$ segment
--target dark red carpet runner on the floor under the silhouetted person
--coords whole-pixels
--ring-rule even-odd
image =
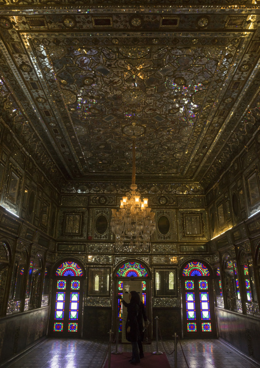
[[[122,353],[119,355],[111,354],[111,368],[130,368],[134,367],[133,364],[128,362],[132,358],[132,354],[129,352]],[[107,368],[109,360],[107,359],[104,368]],[[144,353],[144,358],[141,359],[140,363],[136,364],[136,367],[142,368],[170,368],[168,359],[163,353],[162,355],[154,355],[151,353]]]

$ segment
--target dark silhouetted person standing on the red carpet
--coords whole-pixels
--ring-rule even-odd
[[[136,291],[129,293],[129,303],[122,300],[127,308],[127,320],[125,325],[126,339],[132,343],[132,359],[131,363],[136,364],[143,358],[143,319],[146,322],[144,305],[140,300],[140,296]],[[139,352],[138,352],[139,348]]]

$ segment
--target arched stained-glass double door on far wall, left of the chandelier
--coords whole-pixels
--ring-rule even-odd
[[[53,283],[49,335],[80,337],[82,324],[83,272],[66,261],[59,265]]]

